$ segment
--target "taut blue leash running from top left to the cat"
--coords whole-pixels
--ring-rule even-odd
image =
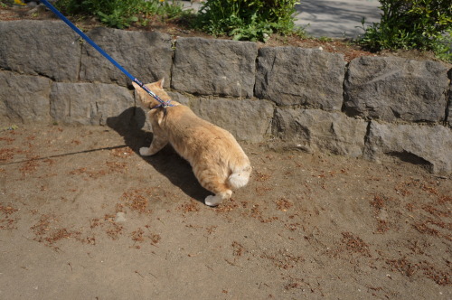
[[[69,21],[63,14],[60,13],[60,11],[58,9],[56,9],[53,5],[51,5],[49,3],[49,1],[47,0],[41,0],[41,2],[47,6],[47,8],[49,8],[53,14],[56,14],[64,23],[68,24],[69,27],[71,27],[71,29],[78,33],[80,35],[80,37],[85,40],[86,42],[89,42],[89,44],[91,46],[94,47],[94,49],[96,49],[100,54],[102,54],[106,59],[108,59],[108,61],[110,61],[111,63],[113,63],[119,70],[121,70],[124,74],[127,75],[127,77],[134,81],[135,83],[137,83],[137,85],[139,85],[142,89],[146,90],[146,93],[148,93],[152,98],[155,98],[155,100],[157,100],[160,104],[155,106],[154,108],[166,108],[166,107],[173,107],[172,104],[170,104],[171,100],[169,101],[164,101],[162,100],[160,97],[158,97],[157,95],[155,95],[155,93],[152,92],[152,90],[148,89],[143,82],[141,82],[140,80],[137,80],[137,78],[133,77],[129,72],[127,72],[126,69],[124,69],[119,63],[118,61],[113,60],[108,54],[107,52],[104,52],[102,50],[102,48],[100,48],[95,42],[93,42],[91,39],[89,39],[88,35],[86,35],[85,33],[81,32],[79,28],[77,28],[77,26],[75,26],[73,23],[71,23],[71,21]]]

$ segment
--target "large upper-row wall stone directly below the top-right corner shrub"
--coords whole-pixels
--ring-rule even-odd
[[[435,61],[363,56],[344,81],[349,115],[393,121],[444,120],[447,67]]]

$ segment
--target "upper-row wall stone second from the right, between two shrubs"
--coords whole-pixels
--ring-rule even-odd
[[[340,110],[344,68],[342,54],[297,47],[261,48],[256,97],[278,105]]]

